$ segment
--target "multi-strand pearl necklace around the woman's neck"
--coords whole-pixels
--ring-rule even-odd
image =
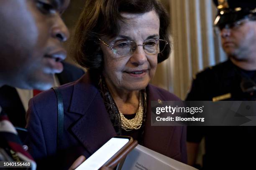
[[[137,130],[141,128],[142,125],[142,120],[143,120],[143,99],[142,99],[142,93],[140,92],[139,94],[139,107],[136,112],[136,115],[133,119],[127,119],[124,117],[123,113],[119,111],[120,118],[121,118],[121,124],[122,124],[122,129],[125,131],[131,131],[133,129]]]

